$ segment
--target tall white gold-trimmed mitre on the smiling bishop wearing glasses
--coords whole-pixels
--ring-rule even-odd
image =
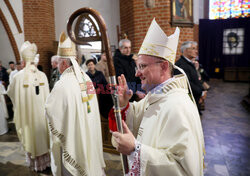
[[[157,56],[174,65],[179,34],[177,27],[175,33],[168,37],[153,19],[138,54]]]

